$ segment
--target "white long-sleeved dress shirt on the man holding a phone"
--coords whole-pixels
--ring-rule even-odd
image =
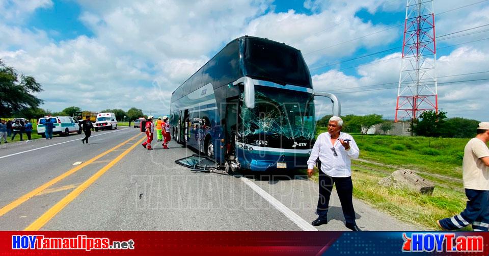
[[[350,149],[346,151],[341,145],[339,139],[350,139]],[[334,155],[331,148],[335,148],[338,156]],[[316,165],[316,159],[319,157],[321,161],[321,171],[331,177],[349,177],[351,176],[351,158],[358,158],[360,149],[357,143],[347,133],[340,132],[340,136],[335,141],[335,145],[331,144],[331,135],[328,132],[317,136],[316,143],[311,151],[311,156],[307,161],[308,169],[312,169]]]

